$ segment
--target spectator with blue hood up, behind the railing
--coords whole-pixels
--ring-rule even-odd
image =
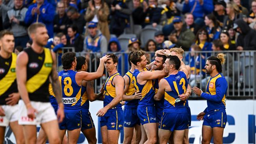
[[[109,40],[108,52],[123,52],[121,50],[120,43],[119,43],[119,41],[116,37],[112,37]],[[123,56],[123,58],[122,58],[122,56]],[[119,54],[119,55],[117,55],[117,57],[118,57],[117,71],[121,75],[126,74],[126,72],[128,72],[128,63],[126,63],[126,61],[128,61],[128,55],[127,54]],[[124,66],[124,72],[123,73],[122,73],[122,65]]]

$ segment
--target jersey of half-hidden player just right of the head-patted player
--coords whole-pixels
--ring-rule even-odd
[[[128,76],[128,78],[129,78],[129,88],[125,94],[128,96],[132,96],[135,94],[134,79],[133,79],[132,72],[130,72],[130,70],[129,70],[125,75]],[[139,102],[139,100],[126,101],[124,107],[137,108],[138,102]]]

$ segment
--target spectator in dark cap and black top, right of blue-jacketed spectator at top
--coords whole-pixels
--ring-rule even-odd
[[[226,15],[226,2],[224,0],[217,0],[214,2],[213,15],[216,17],[219,25],[223,27],[224,17]]]

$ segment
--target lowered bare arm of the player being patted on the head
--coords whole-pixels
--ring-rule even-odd
[[[124,79],[122,76],[115,76],[113,79],[113,84],[115,85],[116,96],[108,105],[97,112],[97,116],[104,116],[109,109],[122,101],[122,96],[124,94]]]

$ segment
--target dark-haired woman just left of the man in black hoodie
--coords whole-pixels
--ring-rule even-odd
[[[236,45],[231,43],[228,30],[222,30],[220,40],[223,43],[223,50],[236,50]]]

